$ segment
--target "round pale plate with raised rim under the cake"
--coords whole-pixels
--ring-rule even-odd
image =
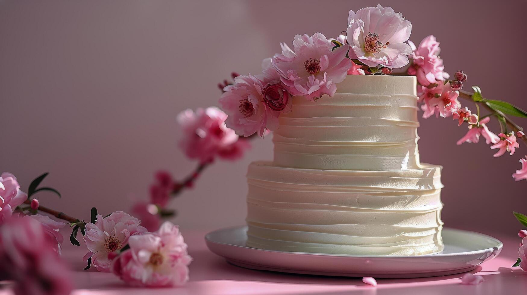
[[[322,276],[421,278],[475,269],[496,257],[503,244],[488,235],[443,229],[445,250],[421,256],[378,256],[282,252],[249,248],[247,227],[221,229],[205,236],[207,247],[236,266]]]

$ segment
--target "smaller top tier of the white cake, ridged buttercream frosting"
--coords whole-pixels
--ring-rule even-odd
[[[294,97],[274,132],[274,164],[309,169],[419,168],[416,79],[348,75],[333,97]]]

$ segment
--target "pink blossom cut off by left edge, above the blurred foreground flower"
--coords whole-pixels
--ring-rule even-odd
[[[15,175],[4,172],[0,175],[0,224],[13,215],[13,210],[27,200],[20,190]]]

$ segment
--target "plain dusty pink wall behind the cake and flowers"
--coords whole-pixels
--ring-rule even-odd
[[[412,22],[415,43],[435,35],[446,70],[469,75],[467,90],[481,85],[484,96],[527,109],[525,1],[379,2]],[[0,172],[15,173],[27,188],[49,171],[45,184],[63,199],[43,194],[41,203],[78,218],[89,219],[92,205],[128,210],[146,198],[155,170],[182,177],[196,164],[176,144],[179,111],[217,105],[216,84],[231,71],[257,73],[295,34],[337,36],[349,9],[376,3],[1,1]],[[511,174],[527,148],[494,159],[482,142],[456,146],[466,128],[452,119],[421,124],[422,161],[444,166],[446,224],[516,232],[511,212],[527,213],[527,183]],[[183,229],[242,224],[247,165],[272,156],[270,138],[253,146],[242,161],[217,162],[174,200],[174,222]]]

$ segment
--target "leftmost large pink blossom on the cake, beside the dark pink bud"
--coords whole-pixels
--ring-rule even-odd
[[[228,115],[227,127],[236,134],[249,136],[257,132],[263,136],[266,130],[278,128],[280,112],[270,109],[264,100],[264,81],[256,76],[238,76],[235,84],[225,87],[220,97],[221,109]]]

